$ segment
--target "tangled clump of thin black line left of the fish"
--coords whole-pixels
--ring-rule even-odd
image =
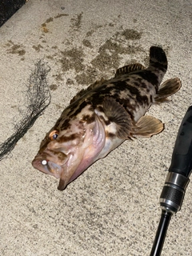
[[[16,131],[7,138],[5,142],[0,144],[0,161],[9,154],[20,138],[22,138],[27,130],[34,125],[34,122],[42,114],[50,104],[50,90],[46,82],[46,76],[50,71],[50,67],[40,60],[35,64],[35,69],[30,74],[27,85],[27,109],[24,117],[16,124]]]

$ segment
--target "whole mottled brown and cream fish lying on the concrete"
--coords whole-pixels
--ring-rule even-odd
[[[160,133],[163,123],[146,111],[169,100],[182,85],[179,78],[162,82],[167,65],[165,51],[151,46],[147,68],[140,63],[122,66],[113,78],[78,92],[42,140],[32,166],[59,178],[58,190],[65,190],[126,139]]]

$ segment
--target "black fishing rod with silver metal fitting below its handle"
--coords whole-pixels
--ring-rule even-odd
[[[192,169],[192,106],[186,111],[178,130],[178,136],[174,145],[172,160],[166,182],[160,196],[162,215],[158,223],[158,230],[154,238],[154,244],[150,256],[160,256],[162,246],[166,238],[170,219],[173,214],[181,210],[186,192],[186,186],[190,182]]]

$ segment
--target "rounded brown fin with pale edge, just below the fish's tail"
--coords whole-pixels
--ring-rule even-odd
[[[163,82],[158,89],[158,93],[154,97],[154,102],[166,102],[168,101],[167,97],[172,94],[175,94],[182,86],[182,82],[179,78],[171,78]]]

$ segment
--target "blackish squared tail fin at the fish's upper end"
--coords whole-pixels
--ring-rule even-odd
[[[162,48],[157,46],[150,47],[150,66],[157,66],[167,70],[167,58]]]

